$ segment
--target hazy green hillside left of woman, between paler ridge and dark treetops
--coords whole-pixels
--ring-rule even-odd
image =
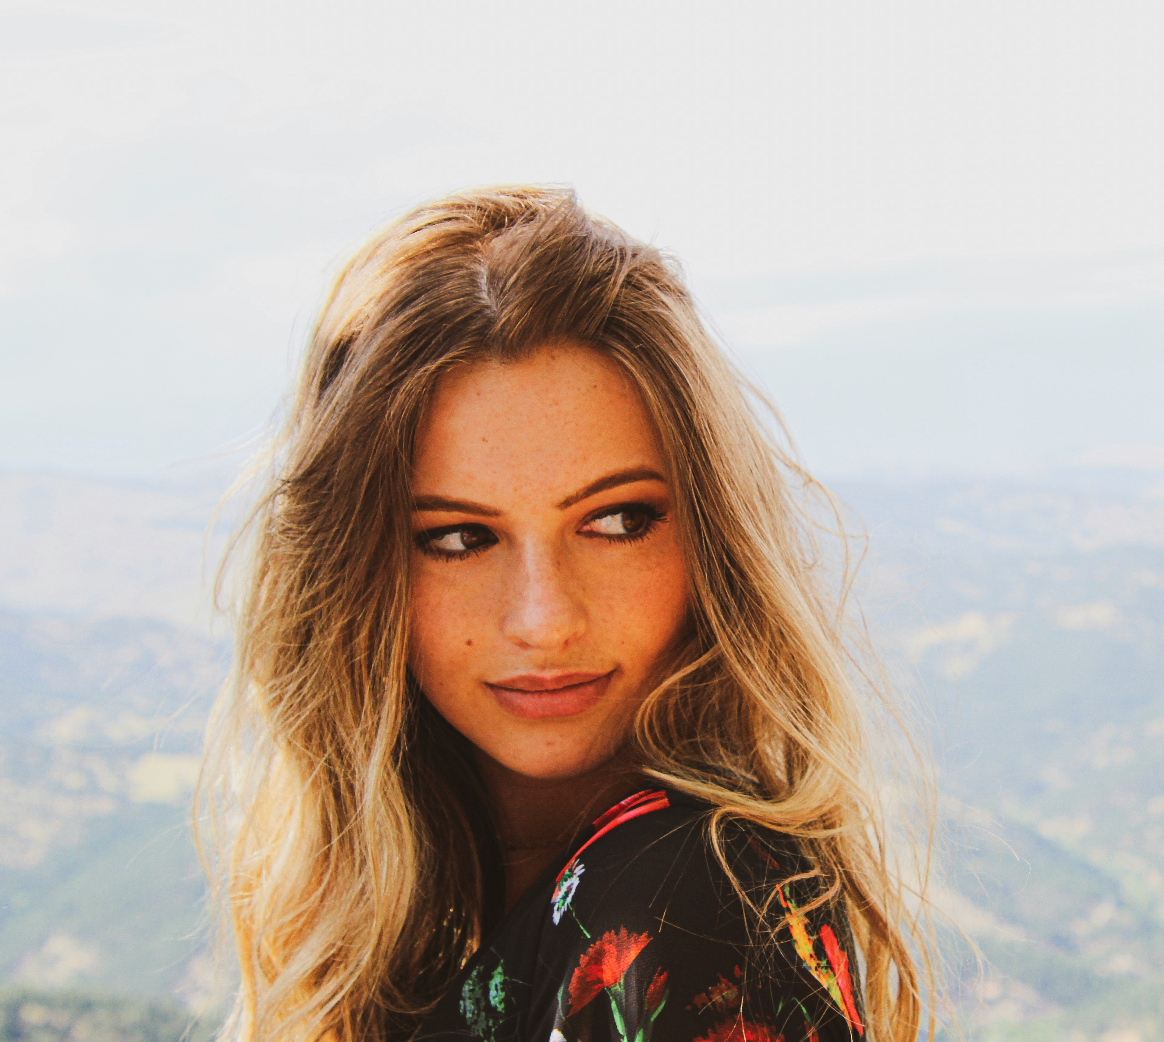
[[[215,648],[156,621],[0,616],[0,979],[194,1002],[189,802]]]

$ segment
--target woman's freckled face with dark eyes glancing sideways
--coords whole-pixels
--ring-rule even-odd
[[[633,384],[569,346],[445,376],[413,494],[411,665],[433,706],[518,774],[605,763],[687,611]]]

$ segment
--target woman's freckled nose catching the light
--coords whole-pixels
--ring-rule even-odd
[[[553,546],[521,548],[503,619],[520,647],[558,651],[585,630],[585,610],[569,569]]]

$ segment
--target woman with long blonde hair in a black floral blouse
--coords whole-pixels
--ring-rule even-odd
[[[675,265],[535,187],[350,261],[211,730],[247,1040],[904,1042],[790,470]]]

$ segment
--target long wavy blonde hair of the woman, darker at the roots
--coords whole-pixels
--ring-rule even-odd
[[[572,192],[528,186],[438,199],[362,246],[272,441],[201,796],[241,964],[229,1033],[407,1037],[481,943],[489,809],[407,668],[411,460],[442,374],[562,341],[639,388],[687,554],[690,632],[630,750],[711,801],[714,839],[733,818],[800,837],[847,912],[871,1036],[913,1040],[931,977],[918,885],[890,864],[870,742],[882,688],[797,505],[818,487],[677,267]]]

